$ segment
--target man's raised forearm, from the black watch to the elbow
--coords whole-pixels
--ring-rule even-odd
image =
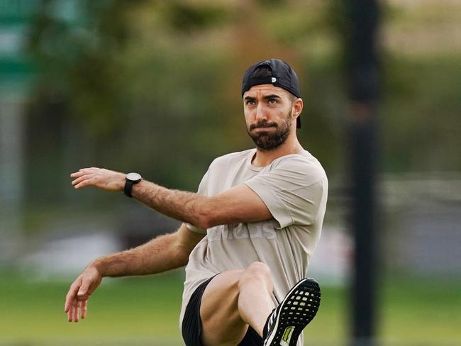
[[[148,181],[133,186],[132,195],[160,213],[179,221],[191,223],[199,228],[206,228],[204,206],[206,197],[187,191],[166,189]]]

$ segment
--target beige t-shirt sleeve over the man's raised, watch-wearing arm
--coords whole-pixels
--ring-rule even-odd
[[[321,167],[297,161],[279,164],[245,184],[260,196],[279,228],[316,222],[328,190]]]

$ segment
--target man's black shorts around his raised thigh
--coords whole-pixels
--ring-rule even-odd
[[[184,318],[182,320],[182,338],[186,346],[203,346],[200,340],[201,335],[201,319],[200,319],[200,303],[206,285],[213,279],[206,280],[201,284],[191,296],[187,304]],[[248,331],[243,337],[243,340],[237,346],[262,346],[264,340],[258,335],[253,328],[248,326]]]

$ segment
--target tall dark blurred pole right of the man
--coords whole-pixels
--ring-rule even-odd
[[[376,340],[377,231],[377,0],[349,0],[351,227],[355,240],[352,279],[352,345],[371,346]]]

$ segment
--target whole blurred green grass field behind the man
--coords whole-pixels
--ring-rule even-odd
[[[68,323],[68,283],[2,275],[0,345],[183,345],[178,316],[182,273],[105,279],[87,319]],[[380,345],[461,345],[461,282],[387,279],[382,285]],[[348,291],[323,286],[306,345],[347,345]]]

